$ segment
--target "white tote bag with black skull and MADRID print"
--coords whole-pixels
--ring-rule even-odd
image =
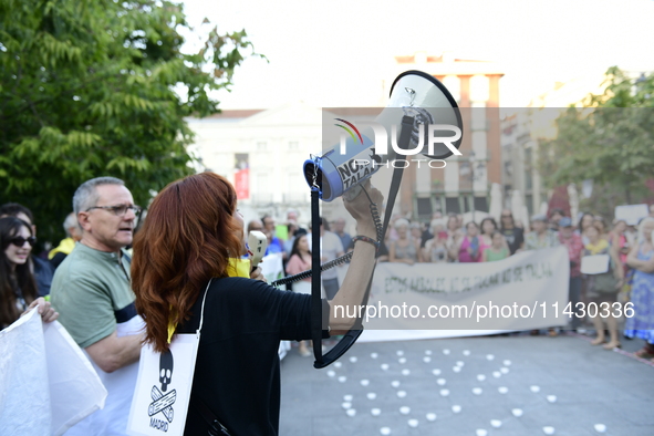
[[[205,290],[200,324],[195,334],[176,334],[168,353],[157,353],[150,344],[141,349],[138,378],[127,423],[128,435],[184,435],[205,316],[205,300],[210,284],[211,281]]]

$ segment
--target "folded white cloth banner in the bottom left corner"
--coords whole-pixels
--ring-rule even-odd
[[[75,341],[35,310],[0,332],[0,435],[62,435],[107,392]]]

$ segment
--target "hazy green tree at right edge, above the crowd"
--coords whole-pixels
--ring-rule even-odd
[[[557,120],[557,138],[540,147],[540,169],[550,187],[593,180],[612,212],[652,195],[654,74],[634,81],[611,68],[605,85],[582,101],[586,108],[570,107]]]

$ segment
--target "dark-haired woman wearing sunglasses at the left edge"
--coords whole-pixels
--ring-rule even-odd
[[[31,227],[15,217],[0,218],[0,328],[6,329],[21,314],[38,308],[44,322],[58,313],[39,297],[28,259],[37,238]]]

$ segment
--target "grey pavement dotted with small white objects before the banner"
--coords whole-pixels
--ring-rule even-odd
[[[356,343],[282,361],[281,436],[654,435],[654,364],[564,333]]]

